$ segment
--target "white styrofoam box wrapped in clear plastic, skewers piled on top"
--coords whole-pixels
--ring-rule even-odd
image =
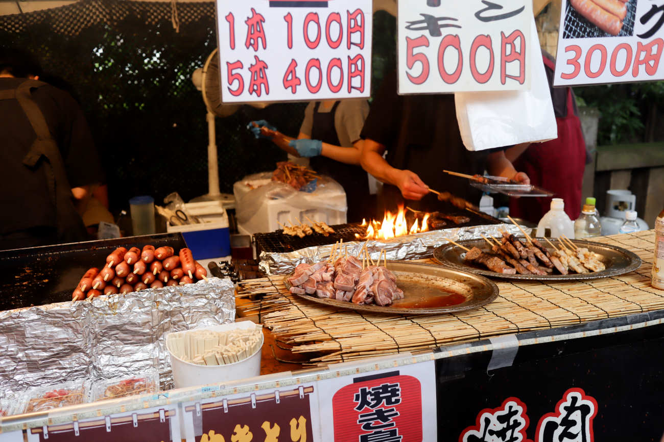
[[[270,180],[264,181],[266,183],[270,182]],[[236,183],[236,186],[234,186],[236,210],[238,211],[241,209],[240,206],[242,205],[244,195],[252,190],[248,186],[238,186],[239,183]],[[261,182],[260,184],[264,183]],[[308,223],[306,217],[309,217],[313,221],[323,221],[328,225],[345,224],[347,214],[346,193],[343,192],[341,186],[338,184],[337,186],[339,187],[338,192],[327,192],[324,198],[318,199],[315,193],[310,193],[307,195],[307,198],[311,201],[311,206],[327,205],[339,207],[339,209],[295,207],[290,205],[287,199],[268,199],[266,197],[260,201],[260,205],[258,205],[256,211],[254,211],[248,221],[243,223],[238,219],[238,231],[244,235],[274,232],[282,229],[279,223],[288,225],[289,221],[295,223],[295,219],[302,223]]]

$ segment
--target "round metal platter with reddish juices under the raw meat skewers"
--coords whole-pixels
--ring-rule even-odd
[[[489,304],[498,296],[498,287],[477,274],[407,261],[388,261],[387,268],[396,275],[396,285],[405,298],[384,307],[317,298],[315,294],[295,296],[327,307],[398,315],[457,313]],[[288,276],[284,285],[290,288]]]

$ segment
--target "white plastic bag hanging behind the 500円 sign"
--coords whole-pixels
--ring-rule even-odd
[[[535,19],[531,41],[531,90],[454,94],[465,148],[485,150],[558,138]]]

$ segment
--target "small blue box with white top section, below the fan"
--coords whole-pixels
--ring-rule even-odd
[[[179,232],[191,249],[194,259],[219,258],[230,255],[228,215],[221,201],[186,203],[187,215],[197,216],[203,223],[166,224],[166,231]]]

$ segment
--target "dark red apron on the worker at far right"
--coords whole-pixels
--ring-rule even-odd
[[[554,69],[554,63],[544,58],[544,64]],[[567,88],[567,106],[564,117],[556,117],[558,138],[547,142],[535,142],[517,158],[514,167],[531,178],[531,184],[551,192],[565,201],[565,212],[570,219],[581,213],[581,188],[586,167],[586,142],[581,131],[581,121],[574,115],[572,89]],[[551,197],[512,198],[509,213],[539,223],[550,209]]]

